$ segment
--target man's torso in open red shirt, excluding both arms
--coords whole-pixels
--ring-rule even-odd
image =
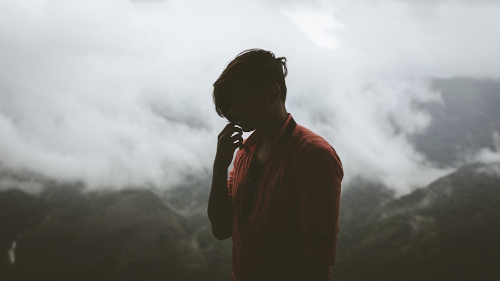
[[[299,276],[304,249],[298,227],[298,173],[295,167],[303,161],[303,155],[318,147],[332,149],[323,139],[297,126],[283,142],[273,147],[270,154],[263,142],[254,147],[251,160],[249,150],[238,151],[233,168],[236,171],[233,178],[235,186],[232,189],[233,206],[244,205],[241,209],[233,208],[236,216],[233,220],[232,261],[233,271],[238,277],[265,280],[263,276],[267,276],[273,280],[295,280]],[[263,187],[260,193],[254,194],[255,201],[245,201],[252,196],[247,195],[249,190],[245,187],[248,185],[242,176],[246,172],[253,174],[253,167],[249,168],[253,160],[269,162],[266,163],[265,178],[258,179]],[[249,206],[256,208],[251,218],[247,217]],[[241,225],[244,227],[240,228]],[[288,270],[283,272],[276,268]]]

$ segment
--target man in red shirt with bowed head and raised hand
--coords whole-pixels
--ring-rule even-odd
[[[287,113],[286,74],[284,57],[249,49],[213,84],[229,123],[218,135],[207,211],[213,235],[232,237],[232,281],[331,280],[342,165]]]

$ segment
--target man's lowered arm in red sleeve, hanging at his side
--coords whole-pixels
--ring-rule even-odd
[[[316,149],[300,163],[297,193],[305,251],[300,280],[331,278],[325,273],[335,263],[342,177],[342,165],[333,149]]]

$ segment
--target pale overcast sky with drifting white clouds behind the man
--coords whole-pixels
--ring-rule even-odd
[[[211,172],[211,84],[288,58],[287,109],[355,175],[406,193],[449,172],[407,141],[429,77],[500,78],[495,1],[0,0],[0,163],[90,187]],[[495,157],[495,156],[493,156]]]

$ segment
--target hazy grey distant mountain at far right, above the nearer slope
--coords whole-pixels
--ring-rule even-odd
[[[500,81],[461,77],[433,79],[432,85],[441,101],[418,105],[432,115],[425,131],[412,138],[418,151],[441,166],[500,152]]]

